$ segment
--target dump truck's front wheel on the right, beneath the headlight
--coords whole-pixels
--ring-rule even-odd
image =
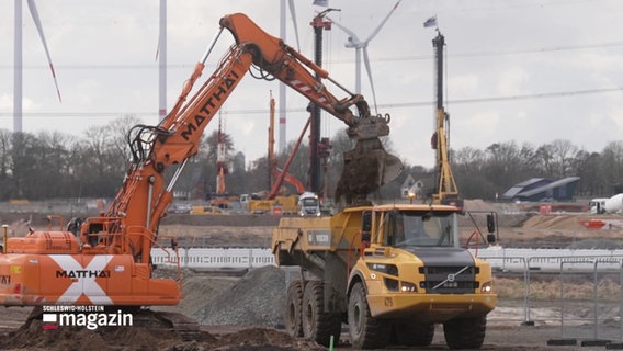
[[[485,341],[487,317],[456,318],[443,324],[445,343],[453,350],[479,349]]]

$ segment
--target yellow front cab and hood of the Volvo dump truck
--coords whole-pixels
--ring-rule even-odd
[[[371,316],[444,322],[495,307],[489,263],[460,247],[456,207],[376,206],[362,213],[362,238],[349,292],[364,283]]]

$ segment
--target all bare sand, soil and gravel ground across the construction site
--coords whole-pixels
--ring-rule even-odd
[[[512,205],[487,204],[471,201],[467,210],[480,216],[489,211],[498,213],[499,238],[505,247],[605,247],[623,246],[620,228],[610,230],[587,229],[580,220],[596,218],[587,214],[550,214],[518,212]],[[218,218],[217,218],[218,217]],[[609,216],[599,218],[621,218]],[[7,220],[7,219],[4,219]],[[161,231],[175,234],[182,246],[268,247],[271,229],[277,218],[270,215],[191,216],[172,215],[162,222]],[[479,222],[483,225],[484,222]],[[20,222],[12,222],[12,231],[19,233]],[[467,217],[461,219],[462,240],[473,233]],[[485,227],[486,228],[486,227]],[[483,229],[483,228],[482,228]],[[484,230],[484,229],[483,229]],[[175,272],[159,268],[160,275]],[[264,267],[238,274],[185,270],[184,298],[178,306],[154,307],[156,310],[175,312],[192,317],[201,325],[201,332],[186,340],[174,332],[140,326],[100,328],[63,327],[44,330],[41,320],[27,322],[30,307],[4,308],[0,318],[0,349],[2,350],[327,350],[313,342],[294,339],[283,331],[285,302],[285,273],[275,267]],[[524,302],[521,292],[512,287],[520,278],[498,278],[500,294],[498,307],[489,315],[487,335],[482,350],[604,350],[603,346],[548,346],[551,340],[569,336],[591,335],[594,325],[577,322],[565,326],[555,322],[560,309],[546,298],[532,302],[534,325],[521,322]],[[579,282],[578,288],[591,282]],[[539,294],[535,294],[539,295]],[[545,295],[545,294],[544,294]],[[587,302],[588,304],[590,302]],[[599,325],[600,335],[621,335],[619,319],[620,296],[611,306],[600,306],[600,314],[611,316]],[[587,306],[576,313],[586,313]],[[608,330],[607,330],[608,329]],[[616,342],[616,340],[613,340]],[[620,341],[620,340],[619,340]],[[349,350],[348,333],[336,342],[336,350]],[[407,348],[388,347],[388,350]],[[430,347],[422,350],[446,350],[442,326],[437,326]]]

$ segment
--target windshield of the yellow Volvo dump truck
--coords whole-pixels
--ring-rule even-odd
[[[397,247],[454,246],[452,212],[394,212],[387,215],[385,244]]]

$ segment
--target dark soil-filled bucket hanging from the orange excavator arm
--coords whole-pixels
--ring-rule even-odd
[[[344,152],[344,168],[336,189],[336,202],[346,206],[366,205],[367,194],[393,181],[403,171],[399,158],[388,154],[378,138],[356,141]]]

